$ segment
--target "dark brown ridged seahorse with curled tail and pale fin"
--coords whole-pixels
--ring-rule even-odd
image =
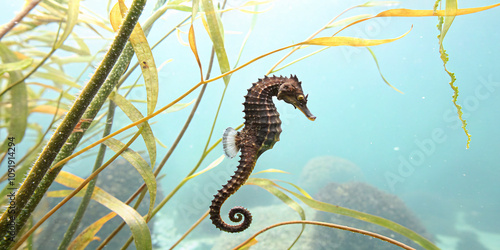
[[[241,132],[227,128],[222,139],[224,152],[228,157],[233,158],[238,151],[241,151],[237,170],[214,195],[210,206],[210,219],[215,227],[222,231],[239,233],[247,229],[252,222],[252,214],[246,208],[238,206],[229,211],[229,219],[235,223],[240,222],[242,217],[244,220],[238,225],[229,225],[222,220],[220,209],[229,196],[245,184],[259,156],[279,141],[281,120],[274,106],[273,96],[292,104],[309,120],[316,119],[307,108],[308,95],[304,95],[302,83],[299,82],[297,76],[290,75],[290,78],[265,76],[252,84],[243,103],[245,126]]]

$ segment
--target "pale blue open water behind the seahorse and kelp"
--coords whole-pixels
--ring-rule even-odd
[[[228,5],[237,6],[242,2],[229,1]],[[258,16],[240,64],[271,50],[303,41],[342,10],[363,2],[275,1],[271,10]],[[459,7],[495,3],[459,1]],[[85,1],[85,4],[106,16],[105,8],[99,7],[98,1]],[[401,1],[397,7],[431,9],[433,4],[434,1]],[[148,2],[145,13],[150,13],[153,6],[153,1]],[[18,6],[10,7],[18,9]],[[388,7],[358,8],[343,17],[376,14],[385,9]],[[281,169],[290,174],[265,174],[262,177],[297,183],[302,168],[310,159],[325,155],[342,157],[359,166],[367,183],[403,199],[430,232],[440,234],[436,224],[453,227],[459,214],[465,214],[466,217],[474,218],[470,223],[477,228],[482,231],[487,228],[489,232],[495,233],[491,242],[500,245],[500,230],[497,226],[500,211],[499,11],[493,9],[456,17],[444,42],[450,55],[447,68],[456,74],[455,84],[460,90],[458,103],[462,105],[467,128],[472,135],[469,149],[466,149],[467,137],[460,127],[456,108],[451,101],[453,91],[448,84],[450,78],[439,58],[437,18],[380,18],[349,28],[339,35],[386,39],[400,36],[411,29],[400,40],[372,47],[387,80],[404,94],[394,91],[383,82],[374,60],[365,48],[330,48],[275,73],[297,75],[303,82],[304,92],[309,94],[308,106],[317,119],[311,122],[293,107],[277,103],[283,120],[281,141],[259,158],[255,171]],[[165,18],[155,24],[151,31],[148,37],[150,44],[184,17],[184,13],[167,12]],[[225,35],[225,47],[231,65],[236,62],[251,18],[250,14],[238,11],[223,16],[224,29],[230,31]],[[2,22],[9,19],[9,16],[5,16]],[[187,31],[187,28],[182,30]],[[197,21],[195,30],[198,51],[206,72],[211,43],[201,22]],[[333,30],[326,30],[320,36],[332,33]],[[185,34],[181,36],[187,41]],[[101,46],[93,46],[91,50],[97,51]],[[318,48],[309,47],[298,51],[285,63]],[[283,55],[284,52],[269,56],[232,75],[211,143],[220,138],[226,127],[235,127],[243,122],[241,103],[246,89],[252,82],[262,78]],[[167,59],[174,60],[159,73],[160,98],[157,107],[170,103],[199,81],[198,67],[189,47],[180,46],[175,36],[154,50],[154,57],[157,65]],[[77,66],[65,69],[71,71],[72,67]],[[70,74],[78,75],[79,72]],[[219,73],[215,63],[212,76]],[[130,79],[135,79],[134,75]],[[191,126],[164,169],[164,192],[170,192],[198,162],[223,87],[221,80],[208,85]],[[196,95],[197,92],[182,102],[191,101]],[[145,99],[145,92],[135,91],[131,98]],[[142,111],[146,112],[144,106]],[[190,107],[152,119],[152,122],[156,122],[152,125],[155,136],[170,147],[189,111]],[[129,121],[118,114],[116,123],[125,125]],[[140,142],[134,149],[144,150]],[[166,151],[158,147],[160,157]],[[221,154],[219,145],[201,164],[200,169]],[[161,160],[160,157],[157,162]],[[82,165],[91,162],[83,159],[79,163],[69,164],[68,169],[85,174],[90,170],[82,171]],[[226,173],[229,171],[230,174],[236,165],[237,159],[225,159],[218,168],[197,177],[197,182],[186,184],[167,204],[165,213],[180,207],[181,211],[186,212],[180,215],[183,220],[194,223],[208,209],[211,194],[229,178]],[[260,195],[267,200],[272,199],[266,191],[243,187],[230,200],[231,204],[251,207],[252,203],[245,200],[252,201],[255,198],[251,197]],[[447,216],[436,216],[442,214]]]

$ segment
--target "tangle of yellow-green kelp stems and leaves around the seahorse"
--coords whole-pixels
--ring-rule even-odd
[[[134,242],[137,249],[152,249],[152,237],[147,223],[159,211],[163,212],[166,210],[164,209],[166,204],[171,204],[169,203],[171,199],[178,194],[178,191],[186,183],[196,182],[196,180],[200,179],[196,177],[205,175],[205,173],[217,167],[224,159],[224,156],[216,158],[203,170],[199,170],[202,165],[205,165],[205,160],[215,158],[214,149],[220,144],[221,139],[212,142],[213,131],[218,121],[221,107],[223,106],[222,102],[225,99],[226,90],[230,86],[231,77],[241,74],[242,69],[251,64],[258,63],[261,59],[272,58],[270,55],[289,50],[288,54],[279,59],[268,72],[261,72],[261,75],[269,75],[291,65],[300,65],[303,59],[311,57],[329,47],[355,46],[368,48],[370,46],[394,42],[411,32],[409,30],[399,37],[389,39],[337,36],[339,32],[348,30],[349,27],[374,18],[384,17],[438,17],[438,28],[440,31],[439,50],[441,59],[446,64],[448,57],[443,47],[443,41],[454,17],[500,6],[500,4],[495,4],[485,7],[459,9],[457,8],[457,1],[446,1],[444,9],[438,9],[440,1],[437,1],[434,9],[429,10],[388,9],[376,15],[357,15],[344,20],[337,20],[341,15],[352,9],[391,6],[394,4],[392,1],[369,1],[341,12],[303,42],[284,46],[260,56],[251,55],[252,59],[239,65],[240,57],[247,56],[243,53],[244,47],[254,32],[255,21],[250,25],[238,54],[233,55],[227,52],[227,47],[230,43],[224,37],[223,14],[234,12],[238,12],[239,14],[244,13],[252,15],[253,20],[256,20],[259,15],[269,11],[269,9],[261,11],[259,8],[269,7],[272,5],[272,2],[236,2],[232,4],[232,7],[226,8],[226,1],[215,5],[211,0],[158,0],[155,3],[156,5],[153,8],[152,14],[142,23],[138,21],[146,6],[145,0],[134,0],[129,5],[129,8],[123,0],[118,0],[116,3],[109,1],[108,10],[106,10],[106,13],[109,13],[109,18],[103,18],[79,0],[27,2],[28,4],[23,7],[23,11],[19,12],[7,25],[3,26],[2,32],[0,32],[0,57],[2,59],[2,65],[0,66],[0,71],[2,72],[0,76],[0,100],[2,102],[0,116],[2,124],[0,129],[2,131],[1,139],[3,140],[2,147],[0,148],[0,162],[2,166],[7,166],[5,174],[0,179],[4,185],[0,199],[2,199],[2,207],[5,208],[0,217],[0,232],[3,234],[0,239],[0,249],[31,249],[36,247],[32,245],[32,242],[33,237],[36,237],[37,230],[43,230],[41,225],[50,217],[56,216],[56,211],[75,196],[82,197],[82,199],[71,223],[69,223],[65,231],[63,239],[59,243],[59,249],[85,248],[91,241],[100,239],[97,236],[99,230],[116,215],[121,217],[123,223],[117,226],[113,232],[106,235],[107,238],[102,239],[98,247],[99,249],[112,240],[125,225],[130,229],[131,237],[123,242],[123,248],[127,248]],[[112,3],[114,5],[109,9]],[[182,16],[182,18],[179,18],[180,20],[175,24],[163,24],[170,25],[170,29],[162,27],[161,31],[155,30],[155,33],[151,34],[153,25],[159,22],[160,18],[167,11],[168,13],[175,13],[175,15]],[[202,28],[206,32],[202,32]],[[165,30],[169,31],[165,32]],[[331,30],[336,31],[324,37],[317,37],[319,33]],[[150,38],[148,37],[157,35],[158,32],[163,33],[164,36],[155,45],[150,46]],[[183,48],[184,45],[189,47],[189,55],[185,55],[184,58],[192,59],[194,57],[198,65],[197,69],[189,68],[190,73],[187,74],[194,75],[195,73],[193,72],[197,74],[197,71],[199,71],[200,80],[195,84],[191,84],[192,81],[189,78],[186,82],[177,83],[175,86],[168,85],[171,92],[165,93],[165,96],[168,96],[168,98],[164,98],[164,90],[160,91],[159,72],[165,65],[170,63],[170,60],[165,60],[161,66],[157,67],[155,58],[161,58],[161,55],[153,53],[153,51],[162,42],[169,41],[172,37],[170,35],[173,33],[177,33],[179,37],[179,42],[175,43],[176,46],[179,48]],[[184,35],[186,33],[187,35]],[[81,37],[81,34],[85,37]],[[89,34],[98,38],[91,38]],[[203,41],[212,42],[209,45],[212,49],[207,68],[203,67],[206,64],[202,63],[200,54],[206,52],[209,48],[207,48],[207,44],[200,43],[201,39],[197,40],[195,34],[198,37],[206,35],[208,38]],[[183,41],[183,38],[186,39],[186,36],[187,43]],[[91,40],[93,39],[102,42],[99,44],[102,46],[102,49],[96,50],[92,47]],[[290,40],[278,37],[273,39],[286,40],[284,42]],[[198,47],[198,45],[201,46]],[[296,51],[303,51],[303,49],[311,45],[323,46],[324,48],[320,51],[296,58],[294,61],[278,68],[287,58],[295,56]],[[168,49],[176,50],[178,48],[168,47]],[[370,53],[378,67],[374,52],[370,50]],[[131,61],[134,54],[137,62],[132,65]],[[210,75],[215,64],[215,57],[217,57],[221,74],[211,78]],[[229,64],[230,57],[236,60],[233,67]],[[178,63],[181,69],[185,69],[183,63],[185,62],[182,60]],[[93,65],[98,66],[91,73],[90,79],[84,83],[82,78],[84,78],[85,74],[92,71]],[[68,67],[71,67],[71,73]],[[140,72],[137,71],[137,68],[140,69]],[[466,129],[466,122],[462,118],[460,106],[457,104],[458,89],[454,85],[455,77],[446,67],[445,70],[452,79],[450,85],[454,91],[453,102],[457,108],[458,116],[462,121],[463,129],[468,136],[468,146],[470,135]],[[77,71],[80,73],[74,74]],[[137,77],[135,81],[132,79],[133,76]],[[143,77],[143,84],[139,83],[141,76]],[[219,92],[221,98],[218,105],[217,103],[203,104],[214,107],[216,111],[215,116],[212,117],[213,122],[211,124],[203,121],[200,122],[201,124],[205,124],[205,127],[210,132],[205,146],[201,146],[203,149],[199,159],[186,174],[186,177],[170,180],[176,183],[173,187],[169,187],[165,198],[157,202],[156,197],[158,180],[161,178],[160,174],[170,173],[169,171],[171,171],[162,171],[163,168],[175,165],[172,163],[169,165],[167,161],[171,159],[174,152],[182,150],[182,147],[179,145],[181,140],[187,137],[186,131],[193,123],[193,118],[199,115],[196,111],[200,108],[200,103],[207,91],[207,86],[215,85],[214,82],[220,79],[224,82],[224,86]],[[396,89],[383,76],[382,79],[390,87]],[[162,83],[161,86],[167,85]],[[188,89],[186,89],[186,86],[188,86]],[[142,93],[142,89],[144,89],[145,96],[138,94]],[[198,89],[198,97],[193,102],[181,103],[188,95]],[[161,97],[160,93],[162,93]],[[134,96],[139,96],[140,98],[134,99]],[[278,96],[278,98],[280,97]],[[303,95],[302,99],[307,100]],[[168,100],[167,104],[163,103],[165,100]],[[157,105],[160,103],[163,107],[157,109]],[[153,126],[154,124],[151,119],[162,115],[166,121],[157,120],[155,123],[162,124],[162,126],[163,124],[167,124],[163,126],[166,128],[170,126],[174,127],[174,122],[172,124],[167,123],[169,117],[185,112],[184,108],[189,106],[192,106],[191,111],[189,114],[186,114],[187,118],[180,128],[180,132],[168,139],[171,141],[171,145],[167,147],[168,151],[164,154],[162,160],[157,161],[158,151],[160,151],[157,146],[163,147],[164,143],[161,142],[158,136],[155,136],[155,134],[158,134],[157,130],[160,130],[160,128]],[[116,110],[117,107],[119,111]],[[181,110],[183,111],[180,112]],[[170,114],[172,112],[176,113]],[[304,112],[308,117],[312,117],[306,111]],[[41,122],[41,120],[46,120],[46,117],[49,115],[51,115],[50,122]],[[124,119],[130,120],[131,123],[127,122],[129,123],[128,125],[120,123],[117,118],[120,115],[126,117]],[[178,118],[178,116],[176,117]],[[178,120],[175,120],[175,122],[178,124]],[[115,128],[113,128],[113,125],[115,125]],[[116,128],[116,126],[119,126],[119,128]],[[119,134],[129,131],[134,127],[137,127],[134,130],[135,132],[129,132],[130,134],[122,135],[123,137],[117,139]],[[242,125],[234,127],[239,129]],[[137,145],[137,142],[135,142],[138,137],[142,138],[143,142],[141,142],[141,145]],[[198,138],[198,140],[200,139]],[[132,144],[134,144],[135,150],[131,148]],[[99,149],[93,151],[93,148],[97,146],[99,146]],[[108,149],[111,149],[112,156],[106,158],[106,151],[110,154]],[[122,156],[134,166],[143,181],[142,186],[125,201],[117,199],[104,189],[96,186],[99,173],[119,156]],[[82,179],[77,174],[67,171],[69,170],[69,165],[76,164],[77,161],[75,158],[78,161],[84,162],[90,157],[92,157],[95,163],[91,174],[86,179]],[[148,160],[144,159],[144,157],[148,158]],[[66,165],[68,166],[63,170],[63,167]],[[182,163],[182,165],[182,168],[185,169],[185,165],[188,165],[187,161]],[[262,172],[280,173],[283,170],[270,169],[256,174]],[[70,189],[49,191],[49,187],[54,182]],[[317,201],[306,190],[292,183],[288,184],[296,189],[296,191],[279,185],[277,181],[265,178],[250,177],[246,184],[256,185],[269,191],[286,205],[297,211],[301,220],[282,222],[264,228],[247,241],[242,242],[239,246],[235,246],[235,248],[246,248],[258,244],[255,237],[275,227],[288,224],[301,224],[303,231],[306,224],[311,224],[370,235],[410,249],[408,246],[390,237],[335,225],[333,223],[307,221],[304,210],[297,202],[298,200],[316,210],[347,215],[383,226],[407,237],[409,240],[426,249],[437,249],[432,242],[406,227],[378,216]],[[140,214],[136,208],[143,202],[146,193],[149,195],[149,203],[146,203],[148,211],[145,214]],[[290,198],[290,195],[295,197],[295,199]],[[54,198],[63,199],[48,212],[44,213],[41,218],[34,218],[37,206],[45,199]],[[112,212],[92,222],[87,228],[80,230],[79,225],[85,218],[85,213],[91,212],[87,210],[92,200],[102,204]],[[208,214],[209,211],[203,215],[200,214],[200,219],[193,223],[191,228],[171,248],[181,244]],[[294,242],[291,243],[290,247],[300,239],[302,231],[295,238]]]

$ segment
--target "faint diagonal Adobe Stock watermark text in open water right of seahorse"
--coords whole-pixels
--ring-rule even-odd
[[[479,77],[478,81],[479,84],[474,89],[473,94],[463,98],[462,111],[464,118],[469,117],[472,112],[478,110],[481,101],[490,98],[500,87],[500,82],[494,81],[491,75],[488,76],[488,79]],[[385,172],[386,184],[392,192],[396,190],[397,185],[410,178],[429,156],[434,154],[439,144],[446,141],[446,132],[449,128],[461,129],[462,123],[457,117],[456,109],[446,110],[443,113],[443,121],[448,124],[447,128],[434,128],[427,138],[423,140],[415,139],[414,149],[407,156],[400,155],[398,157],[399,164],[397,168]]]

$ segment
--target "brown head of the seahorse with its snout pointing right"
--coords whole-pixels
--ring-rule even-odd
[[[302,82],[299,82],[297,76],[290,75],[290,78],[285,77],[283,83],[278,90],[278,100],[283,100],[286,103],[292,104],[295,108],[298,108],[306,117],[314,121],[316,116],[314,116],[311,111],[307,108],[307,96],[304,95],[302,91]]]

